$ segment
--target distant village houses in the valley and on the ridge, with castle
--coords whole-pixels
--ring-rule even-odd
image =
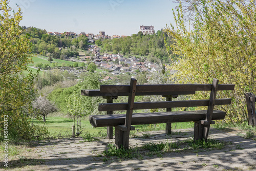
[[[154,34],[154,26],[140,26],[140,31],[143,34]],[[94,44],[95,40],[108,38],[120,38],[120,37],[126,37],[126,36],[108,36],[105,35],[104,31],[100,31],[98,35],[94,35],[92,33],[86,34],[84,32],[81,32],[80,34],[76,34],[74,32],[65,32],[65,33],[58,33],[58,32],[47,32],[50,35],[54,36],[81,36],[85,35],[88,37],[88,41],[91,44]],[[96,45],[89,45],[89,53],[92,54],[91,56],[83,56],[79,55],[78,58],[69,58],[67,60],[75,61],[75,62],[87,62],[91,61],[94,62],[95,65],[99,68],[104,70],[105,72],[109,72],[113,75],[120,75],[125,73],[130,74],[138,74],[139,72],[154,72],[158,70],[157,65],[154,62],[146,61],[146,59],[141,59],[135,56],[130,56],[129,58],[123,57],[121,54],[108,54],[100,53],[100,47]]]

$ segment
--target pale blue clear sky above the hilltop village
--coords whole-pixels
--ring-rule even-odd
[[[157,32],[174,24],[173,0],[10,0],[10,6],[23,12],[20,26],[105,35],[132,35],[141,25]]]

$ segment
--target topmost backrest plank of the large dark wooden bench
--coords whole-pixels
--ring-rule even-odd
[[[117,96],[117,92],[127,93],[130,86],[122,85],[101,85],[100,92],[107,93],[109,96]],[[157,85],[138,85],[137,92],[188,92],[188,91],[210,91],[212,84],[157,84]],[[220,84],[219,90],[234,90],[234,84]]]

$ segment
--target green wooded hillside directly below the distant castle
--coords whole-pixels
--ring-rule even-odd
[[[166,51],[164,40],[167,44],[172,44],[167,34],[158,30],[154,35],[143,35],[142,32],[132,36],[105,39],[102,41],[101,53],[113,52],[123,55],[141,55],[147,56],[148,60],[154,61],[156,58],[161,61],[169,61],[169,54]],[[171,52],[169,52],[171,54]]]

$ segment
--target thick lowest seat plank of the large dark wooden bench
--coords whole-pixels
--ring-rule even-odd
[[[166,122],[189,122],[199,121],[206,117],[207,110],[200,111],[177,111],[177,112],[157,112],[157,113],[137,113],[133,114],[132,125],[137,124],[155,124]],[[214,111],[213,120],[224,119],[226,113],[223,111]],[[125,122],[125,114],[116,115],[91,115],[90,123],[94,127],[118,126]]]

